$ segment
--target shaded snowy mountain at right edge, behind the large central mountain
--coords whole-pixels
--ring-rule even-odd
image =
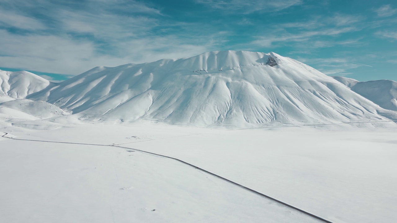
[[[397,111],[397,82],[391,80],[360,82],[346,77],[333,78],[380,107]]]

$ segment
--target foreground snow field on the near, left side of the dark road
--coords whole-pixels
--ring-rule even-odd
[[[318,222],[172,160],[0,141],[2,222]]]

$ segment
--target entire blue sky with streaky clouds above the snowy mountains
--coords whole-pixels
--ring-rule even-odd
[[[276,52],[327,75],[397,81],[392,0],[0,0],[0,69],[64,80],[213,50]]]

